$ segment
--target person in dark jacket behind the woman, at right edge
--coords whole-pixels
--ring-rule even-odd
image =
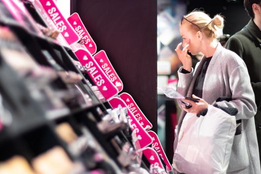
[[[244,0],[244,6],[251,19],[230,37],[225,48],[237,53],[247,65],[258,107],[255,124],[261,152],[261,0]]]

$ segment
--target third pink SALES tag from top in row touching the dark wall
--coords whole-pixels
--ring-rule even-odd
[[[132,96],[126,92],[121,93],[120,98],[127,104],[131,113],[135,116],[137,121],[141,124],[141,126],[146,130],[150,130],[152,128],[151,122],[146,118],[146,116],[142,113],[141,109],[138,107]]]

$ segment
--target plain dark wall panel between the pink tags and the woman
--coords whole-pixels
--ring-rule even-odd
[[[157,1],[75,0],[97,45],[107,53],[130,93],[157,131]]]

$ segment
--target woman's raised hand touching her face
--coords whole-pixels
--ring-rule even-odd
[[[178,59],[181,61],[182,65],[183,65],[183,69],[191,72],[192,60],[191,60],[191,57],[187,54],[187,47],[189,46],[189,44],[185,44],[182,50],[180,49],[181,45],[182,45],[182,42],[180,42],[176,46],[176,49],[175,49],[176,54],[178,56]]]

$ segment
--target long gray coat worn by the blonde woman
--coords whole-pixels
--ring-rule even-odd
[[[205,57],[197,64],[195,72],[182,74],[178,70],[177,90],[184,96],[191,96],[193,86]],[[194,74],[194,75],[193,75]],[[209,104],[218,97],[228,96],[232,100],[217,102],[219,106],[236,107],[236,119],[242,119],[243,131],[234,137],[228,174],[261,174],[254,115],[257,112],[255,95],[251,87],[248,70],[244,61],[234,52],[219,44],[210,61],[203,85],[202,98]],[[177,135],[186,112],[182,111],[178,120]],[[174,140],[174,152],[177,145]]]

